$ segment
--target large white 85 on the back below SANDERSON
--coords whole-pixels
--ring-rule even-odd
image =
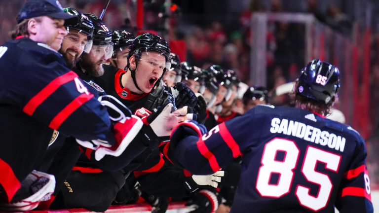
[[[277,159],[277,154],[282,152],[283,159]],[[290,192],[293,170],[299,160],[300,151],[295,142],[287,139],[275,138],[266,143],[262,155],[262,166],[258,172],[256,188],[262,197],[280,198]],[[317,163],[325,164],[325,168],[338,172],[341,156],[327,152],[312,146],[308,146],[305,152],[302,173],[307,181],[319,186],[316,196],[310,195],[310,189],[298,184],[295,195],[300,204],[314,211],[323,209],[329,200],[333,185],[330,178],[316,171]],[[276,183],[270,183],[273,175],[278,175]]]

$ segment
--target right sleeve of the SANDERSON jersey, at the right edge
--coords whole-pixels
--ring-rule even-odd
[[[359,137],[354,159],[343,175],[336,207],[343,213],[372,213],[370,178],[367,171],[367,150]]]

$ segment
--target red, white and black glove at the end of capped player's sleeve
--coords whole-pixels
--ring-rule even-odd
[[[95,159],[101,160],[105,155],[119,156],[126,147],[136,137],[142,128],[142,121],[139,117],[132,115],[130,110],[113,96],[100,96],[100,103],[106,106],[110,115],[110,119],[114,121],[112,134],[109,138],[114,141],[92,140],[76,142],[80,145],[94,149]]]

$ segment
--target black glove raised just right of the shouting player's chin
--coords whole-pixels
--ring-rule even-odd
[[[196,95],[185,83],[176,83],[174,87],[171,87],[171,92],[175,97],[175,105],[177,108],[182,108],[183,106],[193,108],[193,106],[195,106]]]

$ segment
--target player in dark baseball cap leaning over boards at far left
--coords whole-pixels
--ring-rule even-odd
[[[33,170],[57,131],[102,157],[121,154],[125,142],[134,138],[126,134],[129,121],[113,123],[107,107],[57,52],[67,35],[65,20],[71,18],[58,0],[27,1],[17,17],[13,40],[0,47],[0,132],[7,144],[0,150],[1,209],[31,210],[49,198],[54,177]]]

